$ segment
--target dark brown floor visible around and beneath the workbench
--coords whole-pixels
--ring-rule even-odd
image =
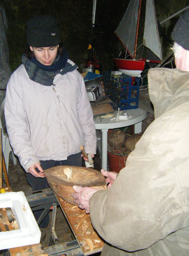
[[[82,163],[82,166],[85,166],[84,161]],[[99,171],[101,170],[100,157],[98,156],[98,154],[94,157],[94,169]],[[9,183],[12,191],[14,192],[23,191],[26,196],[32,194],[32,190],[29,183],[27,182],[26,173],[24,169],[20,166],[19,162],[17,162],[17,165],[15,166],[13,165],[11,154],[10,154],[10,160],[9,160],[8,178],[9,178]],[[4,180],[3,180],[3,186],[6,186]],[[40,228],[43,234],[41,239],[41,244],[43,247],[47,247],[49,245],[50,236],[51,236],[52,210],[50,211],[49,215],[50,215],[50,221],[47,228]],[[62,213],[60,207],[57,207],[55,231],[60,243],[69,242],[75,239],[73,233],[71,232],[71,229],[69,228],[67,220],[64,218],[64,214]],[[1,255],[3,255],[2,251],[0,251],[0,256]]]

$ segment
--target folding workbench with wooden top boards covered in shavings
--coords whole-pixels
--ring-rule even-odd
[[[7,192],[11,192],[10,187],[5,187]],[[42,200],[42,201],[41,201]],[[91,221],[90,214],[86,214],[84,210],[78,208],[78,206],[69,204],[61,197],[58,197],[54,194],[54,192],[49,188],[43,190],[39,194],[31,194],[27,196],[27,201],[30,204],[31,209],[38,207],[37,205],[42,204],[41,207],[44,206],[49,207],[49,204],[60,205],[65,218],[70,225],[72,232],[76,240],[64,243],[57,243],[52,246],[48,246],[43,248],[41,243],[28,245],[28,246],[20,246],[8,249],[6,255],[10,256],[87,256],[94,253],[101,252],[104,242],[99,238],[98,234],[94,231]],[[44,204],[44,206],[43,206]],[[44,211],[45,208],[44,208]],[[7,218],[6,214],[5,218]],[[3,221],[8,223],[8,218]],[[1,224],[1,223],[0,223]],[[9,230],[13,230],[14,228],[9,225]],[[0,229],[6,232],[6,228],[0,225]]]

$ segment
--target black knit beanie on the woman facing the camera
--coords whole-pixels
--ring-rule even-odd
[[[57,19],[50,15],[37,15],[26,23],[27,43],[34,47],[50,47],[61,42]]]

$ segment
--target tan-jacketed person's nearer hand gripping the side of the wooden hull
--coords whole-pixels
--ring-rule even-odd
[[[71,196],[75,198],[74,203],[78,204],[79,208],[85,209],[86,213],[89,213],[89,199],[98,190],[92,187],[81,187],[75,185],[73,186],[73,189],[77,192],[71,194]]]

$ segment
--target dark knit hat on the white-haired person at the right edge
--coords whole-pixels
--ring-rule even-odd
[[[172,31],[172,39],[189,51],[189,9],[177,21]]]

